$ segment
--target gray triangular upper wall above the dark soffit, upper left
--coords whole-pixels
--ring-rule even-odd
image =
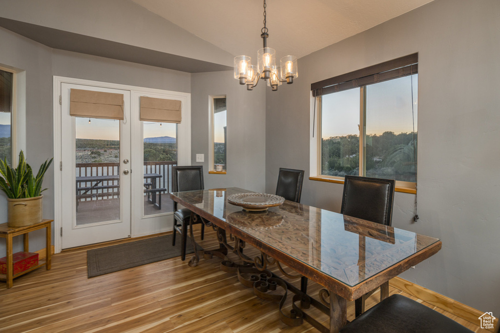
[[[130,0],[0,0],[0,8],[0,17],[232,66],[228,52]]]

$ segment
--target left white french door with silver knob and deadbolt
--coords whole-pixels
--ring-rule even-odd
[[[69,115],[70,89],[130,91],[61,84],[62,248],[130,237],[130,122]]]

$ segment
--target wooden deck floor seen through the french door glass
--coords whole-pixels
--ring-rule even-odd
[[[161,210],[143,196],[144,216],[173,212],[173,201],[167,193],[161,195]],[[119,219],[119,199],[99,199],[80,201],[76,212],[77,225]]]

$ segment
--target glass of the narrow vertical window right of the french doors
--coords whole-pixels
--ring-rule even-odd
[[[213,169],[227,170],[227,107],[225,97],[213,98]],[[219,165],[219,169],[217,169]]]

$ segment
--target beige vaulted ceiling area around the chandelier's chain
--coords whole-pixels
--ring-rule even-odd
[[[262,47],[262,0],[132,0],[233,54]],[[267,46],[307,55],[432,0],[267,0]]]

